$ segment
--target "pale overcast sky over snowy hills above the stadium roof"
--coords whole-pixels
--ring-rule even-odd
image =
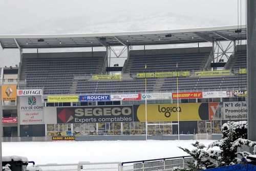
[[[0,35],[172,30],[238,24],[245,24],[245,0],[0,1]],[[19,52],[0,48],[0,58],[0,67],[14,66],[19,62]]]

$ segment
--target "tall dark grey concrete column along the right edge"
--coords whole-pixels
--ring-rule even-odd
[[[247,0],[248,139],[256,141],[256,1]]]

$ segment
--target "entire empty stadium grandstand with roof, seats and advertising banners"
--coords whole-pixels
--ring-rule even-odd
[[[220,138],[223,123],[247,119],[244,40],[245,26],[0,35],[3,49],[20,50],[19,66],[1,70],[4,140]],[[116,46],[127,55],[112,67]],[[92,50],[23,53],[79,47]]]

